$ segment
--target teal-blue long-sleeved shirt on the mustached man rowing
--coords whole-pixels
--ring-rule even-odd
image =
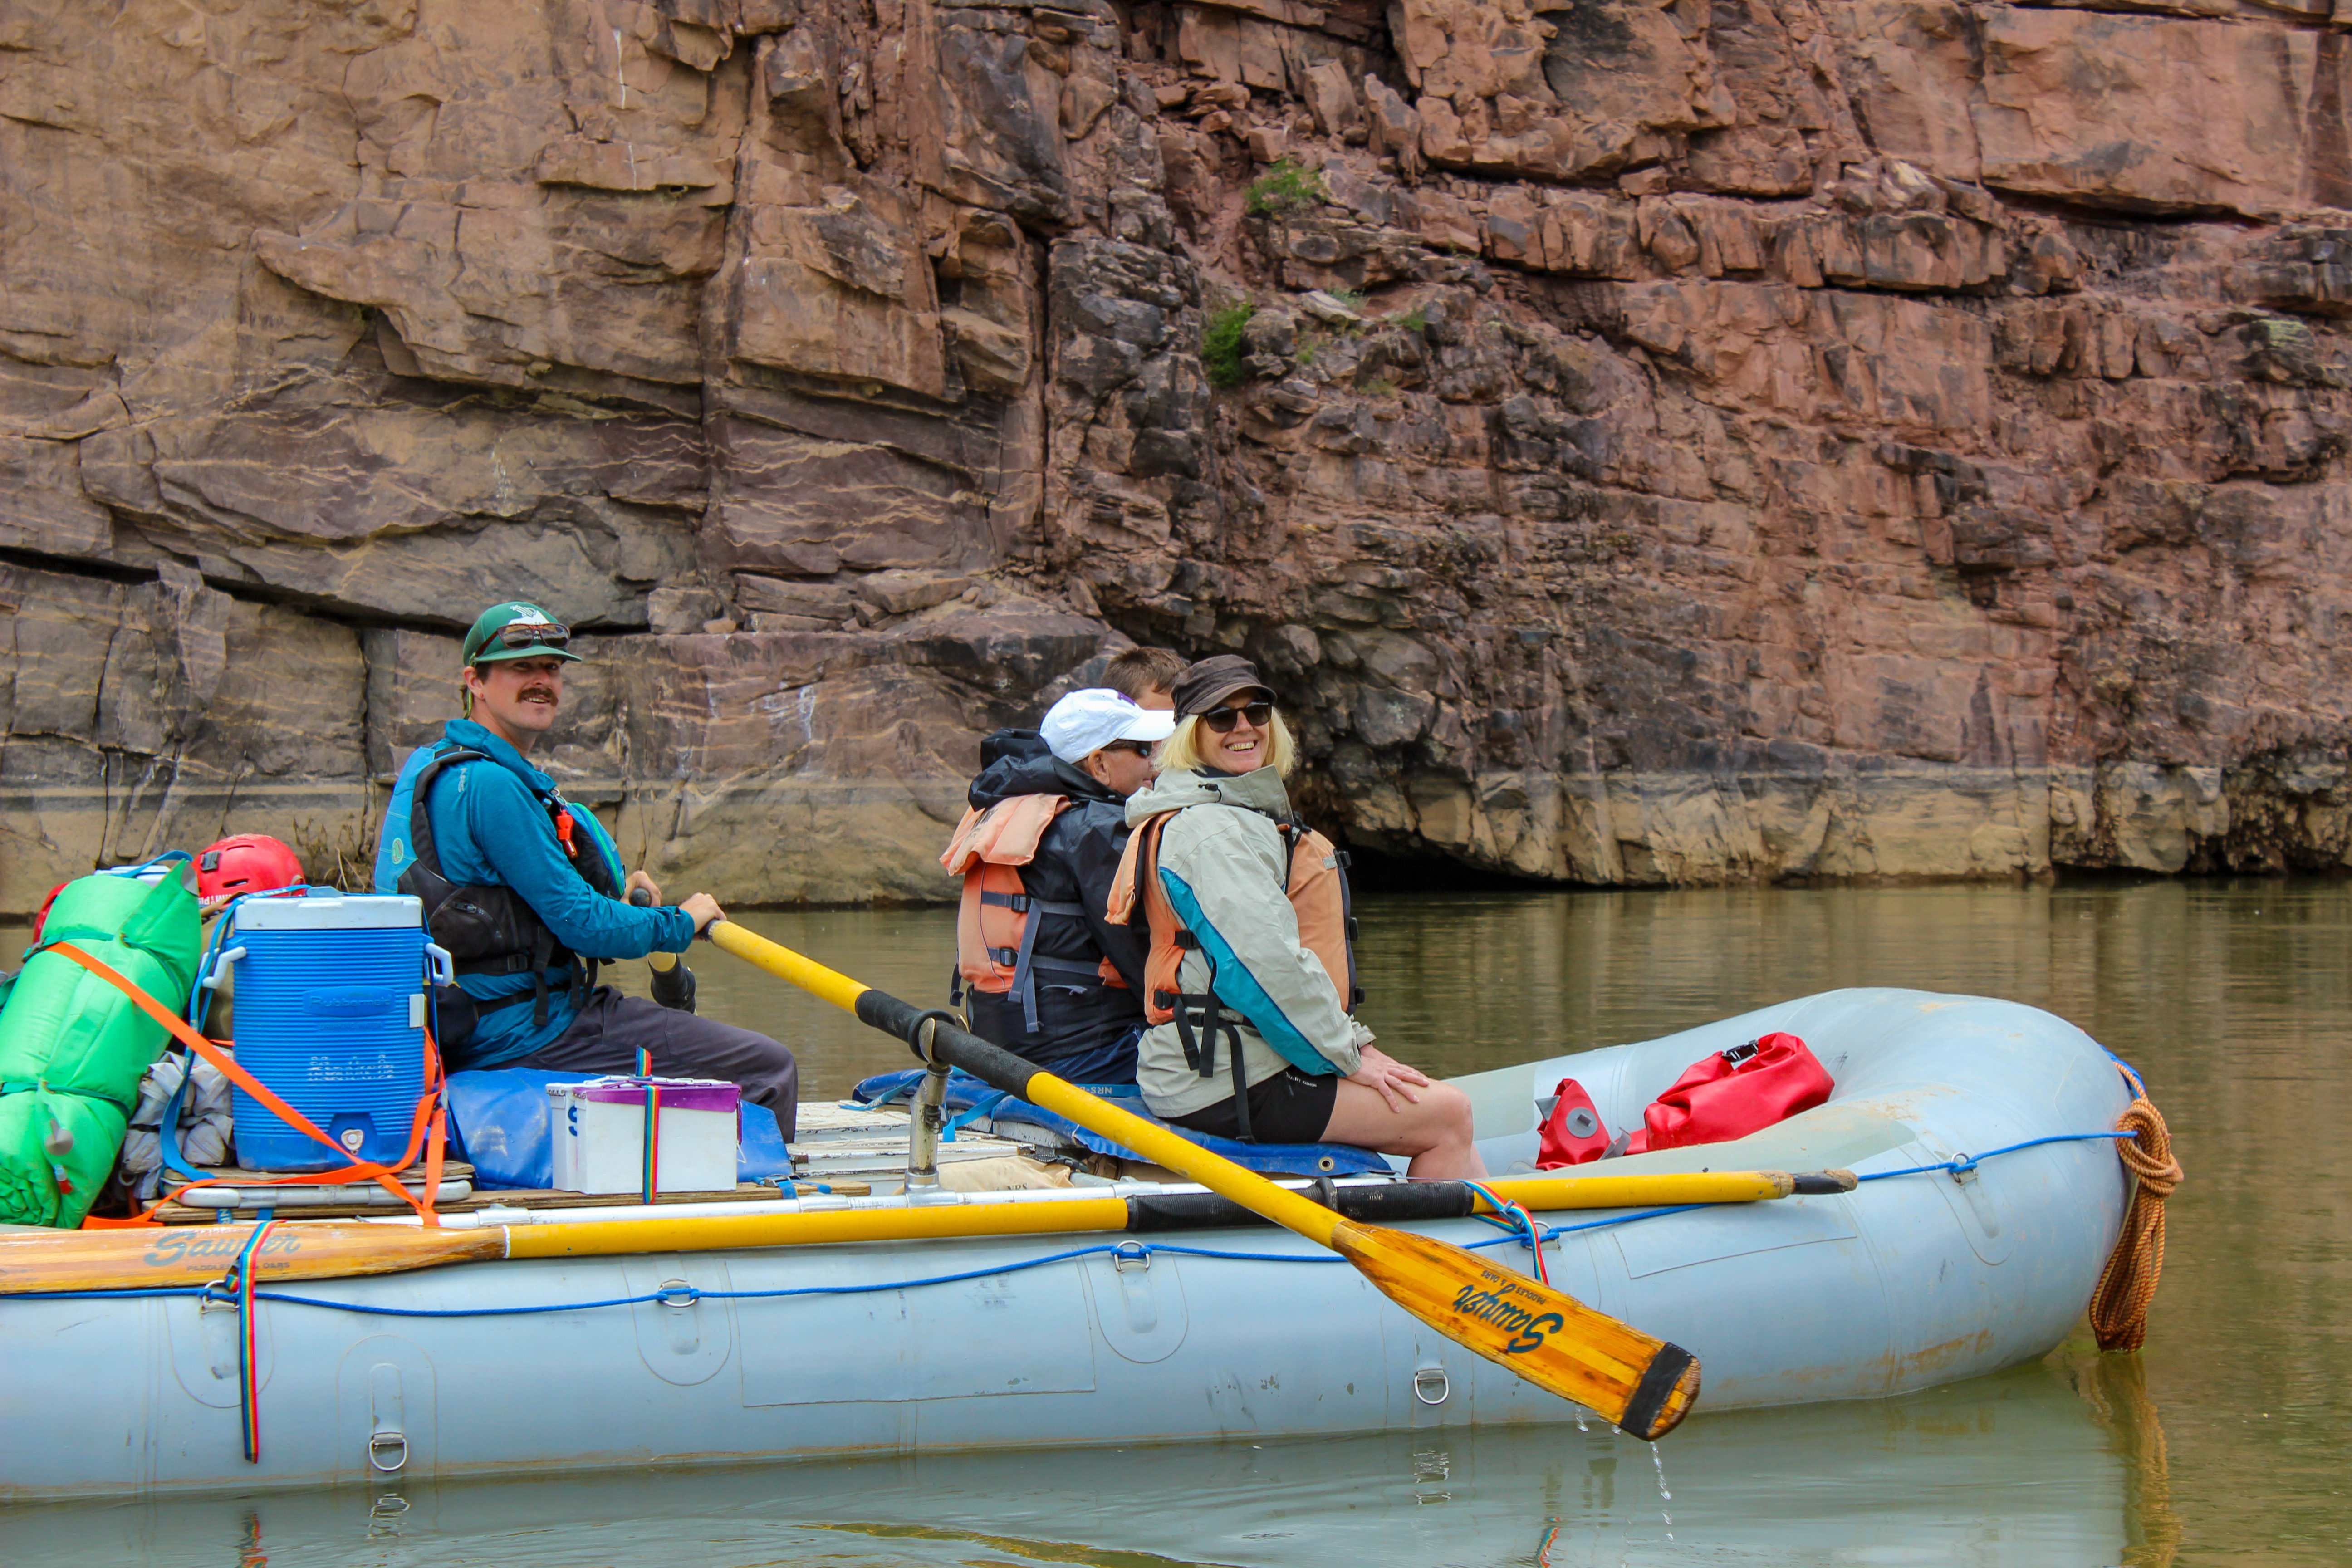
[[[677,907],[635,907],[604,898],[579,875],[555,837],[539,790],[553,780],[522,752],[470,719],[454,719],[445,736],[485,752],[489,762],[445,769],[433,780],[426,811],[440,849],[442,875],[456,884],[503,884],[548,924],[548,931],[583,959],[642,959],[649,952],[684,952],[694,943],[694,919]],[[586,806],[574,806],[586,813]],[[562,969],[548,971],[562,983]],[[463,976],[459,985],[482,1001],[463,1063],[452,1067],[499,1067],[548,1046],[579,1011],[576,999],[548,999],[548,1020],[532,1023],[532,976]]]

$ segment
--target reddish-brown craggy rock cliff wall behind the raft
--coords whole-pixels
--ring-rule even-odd
[[[1242,649],[1362,844],[2333,867],[2352,0],[16,0],[0,907],[360,858],[494,597],[666,879]]]

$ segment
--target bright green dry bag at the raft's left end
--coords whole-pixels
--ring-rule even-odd
[[[186,856],[66,884],[0,1006],[0,1222],[73,1229],[115,1168],[165,1027],[54,943],[73,943],[179,1011],[202,929]],[[64,1180],[59,1180],[64,1178]]]

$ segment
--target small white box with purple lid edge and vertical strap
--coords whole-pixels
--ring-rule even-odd
[[[659,1093],[654,1192],[734,1192],[734,1084],[604,1077],[548,1084],[548,1143],[562,1192],[644,1192],[644,1095]]]

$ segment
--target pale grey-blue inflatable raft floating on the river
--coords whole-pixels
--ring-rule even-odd
[[[1811,1044],[1837,1079],[1828,1105],[1562,1175],[1842,1166],[1860,1185],[1552,1204],[1552,1284],[1693,1349],[1700,1413],[1898,1394],[2056,1347],[2124,1218],[2110,1128],[2131,1091],[2049,1013],[1849,990],[1458,1084],[1505,1173],[1534,1159],[1559,1077],[1628,1126],[1691,1060],[1771,1030]],[[1327,1182],[1343,1211],[1409,1192]],[[249,1307],[191,1281],[254,1225],[5,1234],[0,1497],[1578,1420],[1287,1232],[1169,1218],[1200,1199],[1216,1201],[1150,1182],[804,1197],[727,1220],[734,1241],[691,1232],[699,1251],[673,1251],[661,1211],[642,1244],[612,1211],[492,1211],[433,1241],[482,1260],[358,1279],[287,1265],[310,1246],[301,1222],[266,1239],[278,1274]],[[776,1246],[783,1225],[826,1244]],[[322,1227],[310,1255],[358,1229]],[[1531,1267],[1522,1237],[1475,1218],[1409,1229]],[[85,1284],[61,1248],[80,1248]]]

